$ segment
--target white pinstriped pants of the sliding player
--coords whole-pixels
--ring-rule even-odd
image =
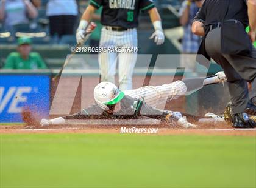
[[[166,101],[177,99],[181,95],[185,95],[187,87],[182,81],[172,82],[171,84],[163,84],[162,86],[145,86],[134,90],[125,90],[124,93],[133,98],[144,99],[144,101],[152,107],[166,104]],[[163,110],[163,109],[160,109]],[[180,118],[180,112],[172,112],[173,115]]]

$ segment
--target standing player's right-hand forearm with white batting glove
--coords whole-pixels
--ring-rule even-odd
[[[157,11],[157,8],[152,8],[148,11],[148,13],[155,29],[155,32],[149,39],[154,39],[155,44],[161,45],[163,42],[165,42],[165,35],[163,33],[160,15]]]

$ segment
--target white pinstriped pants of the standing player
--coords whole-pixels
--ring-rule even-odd
[[[128,29],[123,32],[101,30],[100,47],[137,47],[137,30]],[[116,63],[118,62],[119,88],[132,89],[132,74],[136,64],[137,53],[107,52],[99,54],[101,81],[115,83]]]

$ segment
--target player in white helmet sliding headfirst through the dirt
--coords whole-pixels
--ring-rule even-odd
[[[216,75],[205,79],[198,79],[203,81],[204,86],[226,82],[226,76],[223,72],[218,72]],[[166,100],[170,101],[193,90],[194,88],[189,85],[191,85],[191,82],[197,82],[198,79],[185,79],[162,86],[146,86],[135,90],[125,90],[124,92],[111,82],[101,82],[94,88],[95,104],[74,115],[49,120],[41,119],[40,124],[42,126],[65,124],[66,120],[69,119],[137,119],[140,116],[146,116],[160,119],[164,123],[173,124],[173,122],[176,122],[180,126],[188,128],[196,127],[193,124],[195,121],[207,121],[208,123],[224,121],[223,116],[199,117],[156,108],[158,104],[165,103]]]

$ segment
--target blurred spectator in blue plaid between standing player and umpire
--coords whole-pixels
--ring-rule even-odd
[[[202,7],[204,0],[186,0],[183,1],[180,7],[180,24],[184,27],[184,36],[182,39],[182,53],[193,54],[197,53],[201,38],[194,35],[191,32],[191,25],[193,23],[194,16],[198,12],[199,8]],[[182,67],[194,70],[195,64],[191,63],[191,59],[183,57],[181,61]]]

